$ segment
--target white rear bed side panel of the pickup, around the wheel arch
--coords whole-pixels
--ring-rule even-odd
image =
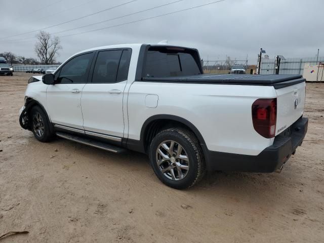
[[[147,94],[158,96],[155,108]],[[201,133],[209,150],[258,155],[270,139],[253,128],[251,107],[258,98],[275,98],[272,86],[134,82],[128,96],[129,138],[140,140],[146,119],[157,114],[180,116]]]

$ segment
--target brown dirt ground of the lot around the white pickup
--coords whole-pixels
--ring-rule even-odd
[[[1,242],[324,242],[324,84],[307,84],[308,133],[280,174],[158,181],[139,153],[114,154],[20,128],[30,74],[0,76]]]

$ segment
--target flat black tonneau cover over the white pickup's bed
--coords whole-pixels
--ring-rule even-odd
[[[273,86],[275,89],[305,82],[302,75],[289,74],[198,74],[179,77],[143,77],[144,82]]]

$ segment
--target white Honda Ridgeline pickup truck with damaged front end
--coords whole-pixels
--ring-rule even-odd
[[[191,48],[93,48],[28,83],[19,121],[37,140],[146,153],[178,189],[206,171],[280,172],[307,132],[301,75],[203,74]]]

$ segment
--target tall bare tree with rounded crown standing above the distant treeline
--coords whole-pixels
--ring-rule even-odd
[[[50,33],[43,30],[39,31],[36,38],[38,39],[35,44],[37,57],[43,64],[53,64],[56,56],[59,55],[58,51],[62,49],[60,38],[58,36],[51,36]]]

